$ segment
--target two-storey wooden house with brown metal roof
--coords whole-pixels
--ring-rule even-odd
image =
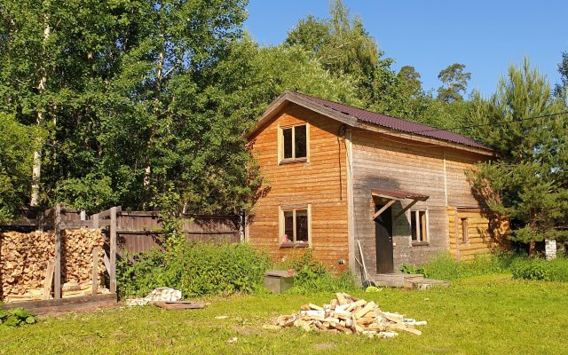
[[[373,275],[498,242],[465,173],[494,152],[471,138],[289,91],[246,137],[266,179],[246,238],[275,260]]]

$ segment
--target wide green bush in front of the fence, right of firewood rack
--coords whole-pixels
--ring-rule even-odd
[[[152,250],[117,265],[119,296],[146,296],[170,287],[184,297],[250,293],[263,283],[269,258],[248,244],[184,242],[166,251]]]

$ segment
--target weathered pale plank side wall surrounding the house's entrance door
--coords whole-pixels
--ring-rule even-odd
[[[410,211],[393,220],[394,270],[401,265],[423,264],[432,256],[447,251],[448,203],[477,207],[470,193],[465,170],[485,156],[453,148],[431,146],[415,141],[387,136],[367,130],[353,130],[353,198],[355,210],[355,240],[361,241],[369,272],[376,271],[375,201],[373,188],[406,190],[429,195],[413,209],[427,209],[429,242],[414,245],[410,236]],[[410,200],[397,201],[392,206],[396,216]]]

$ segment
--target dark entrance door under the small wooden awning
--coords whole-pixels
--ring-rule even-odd
[[[376,206],[376,210],[383,206]],[[392,259],[392,209],[375,219],[376,273],[394,272]]]

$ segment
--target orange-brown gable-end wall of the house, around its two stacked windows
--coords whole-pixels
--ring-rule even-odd
[[[279,164],[279,125],[309,124],[309,162]],[[347,267],[347,175],[341,123],[302,106],[289,104],[256,136],[250,138],[266,183],[248,221],[248,241],[267,249],[281,262],[304,248],[281,248],[280,206],[311,203],[313,256],[332,271]],[[339,264],[343,259],[344,264]]]

